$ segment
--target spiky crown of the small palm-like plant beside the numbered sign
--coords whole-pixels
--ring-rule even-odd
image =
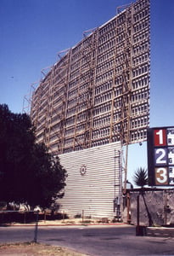
[[[148,184],[148,172],[146,169],[140,167],[138,170],[135,172],[133,176],[133,182],[139,186],[139,187],[144,187],[145,185]]]

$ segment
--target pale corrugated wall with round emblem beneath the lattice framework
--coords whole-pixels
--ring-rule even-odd
[[[70,217],[113,218],[114,200],[121,193],[121,143],[59,155],[68,172],[60,210]]]

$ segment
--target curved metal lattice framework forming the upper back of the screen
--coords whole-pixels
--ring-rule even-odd
[[[146,140],[149,25],[149,0],[138,0],[59,52],[32,95],[37,142],[63,154]]]

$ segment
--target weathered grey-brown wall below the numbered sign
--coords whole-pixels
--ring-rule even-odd
[[[137,224],[138,195],[139,221],[141,225],[149,226],[149,214],[153,225],[174,225],[174,190],[145,191],[143,195],[140,192],[131,192],[130,212],[132,224]],[[145,204],[147,207],[145,207]]]

